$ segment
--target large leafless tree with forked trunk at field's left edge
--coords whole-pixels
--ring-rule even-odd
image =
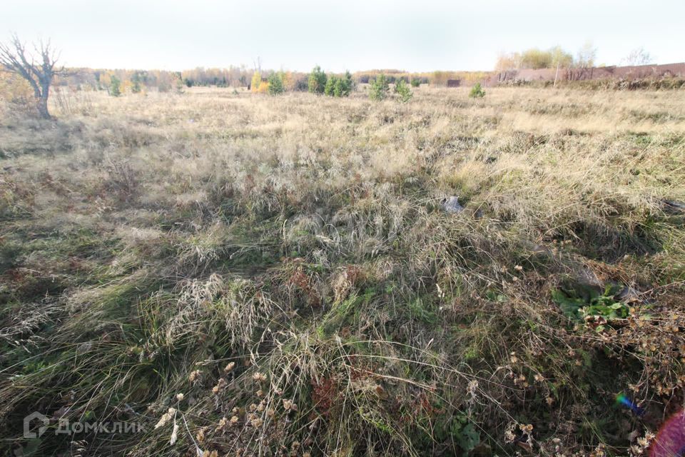
[[[64,74],[64,68],[55,68],[58,58],[59,53],[52,48],[50,41],[34,44],[34,52],[26,51],[26,46],[15,34],[8,44],[0,43],[0,69],[29,81],[36,96],[36,107],[44,119],[50,119],[48,96],[52,79]]]

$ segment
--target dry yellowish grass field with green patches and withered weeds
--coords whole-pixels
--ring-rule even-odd
[[[646,452],[684,404],[685,91],[486,91],[4,106],[2,454]]]

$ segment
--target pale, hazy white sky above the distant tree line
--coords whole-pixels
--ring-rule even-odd
[[[3,0],[0,40],[51,38],[68,66],[489,70],[499,51],[587,40],[685,61],[685,0]]]

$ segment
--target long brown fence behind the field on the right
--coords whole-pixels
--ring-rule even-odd
[[[685,77],[685,63],[635,66],[595,66],[587,69],[523,69],[508,70],[488,76],[485,86],[497,86],[508,81],[585,81],[590,79],[644,79],[667,76]]]

